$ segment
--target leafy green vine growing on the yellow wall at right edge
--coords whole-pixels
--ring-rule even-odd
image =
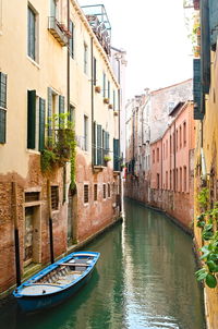
[[[205,245],[199,249],[202,252],[201,260],[203,267],[195,272],[198,281],[205,281],[209,288],[217,287],[218,272],[218,203],[209,209],[209,190],[202,188],[198,194],[198,205],[201,209],[197,216],[196,226],[202,230],[202,239]]]

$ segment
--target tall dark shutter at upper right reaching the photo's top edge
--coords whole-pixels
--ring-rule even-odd
[[[209,94],[210,86],[210,31],[208,0],[201,1],[201,72],[204,94]]]

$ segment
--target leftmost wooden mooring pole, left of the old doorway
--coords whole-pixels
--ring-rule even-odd
[[[20,259],[20,239],[17,222],[17,183],[12,182],[12,219],[14,226],[14,244],[15,244],[15,268],[16,268],[16,285],[21,285],[21,259]]]

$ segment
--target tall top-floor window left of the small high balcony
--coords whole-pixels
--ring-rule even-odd
[[[28,23],[27,23],[27,51],[28,56],[36,61],[37,60],[37,53],[36,53],[36,41],[37,41],[37,35],[36,35],[36,12],[28,7]]]

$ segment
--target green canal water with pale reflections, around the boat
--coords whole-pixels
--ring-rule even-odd
[[[62,305],[22,316],[11,302],[1,329],[204,329],[192,239],[164,215],[125,202],[125,220],[86,249],[101,256],[93,277]]]

